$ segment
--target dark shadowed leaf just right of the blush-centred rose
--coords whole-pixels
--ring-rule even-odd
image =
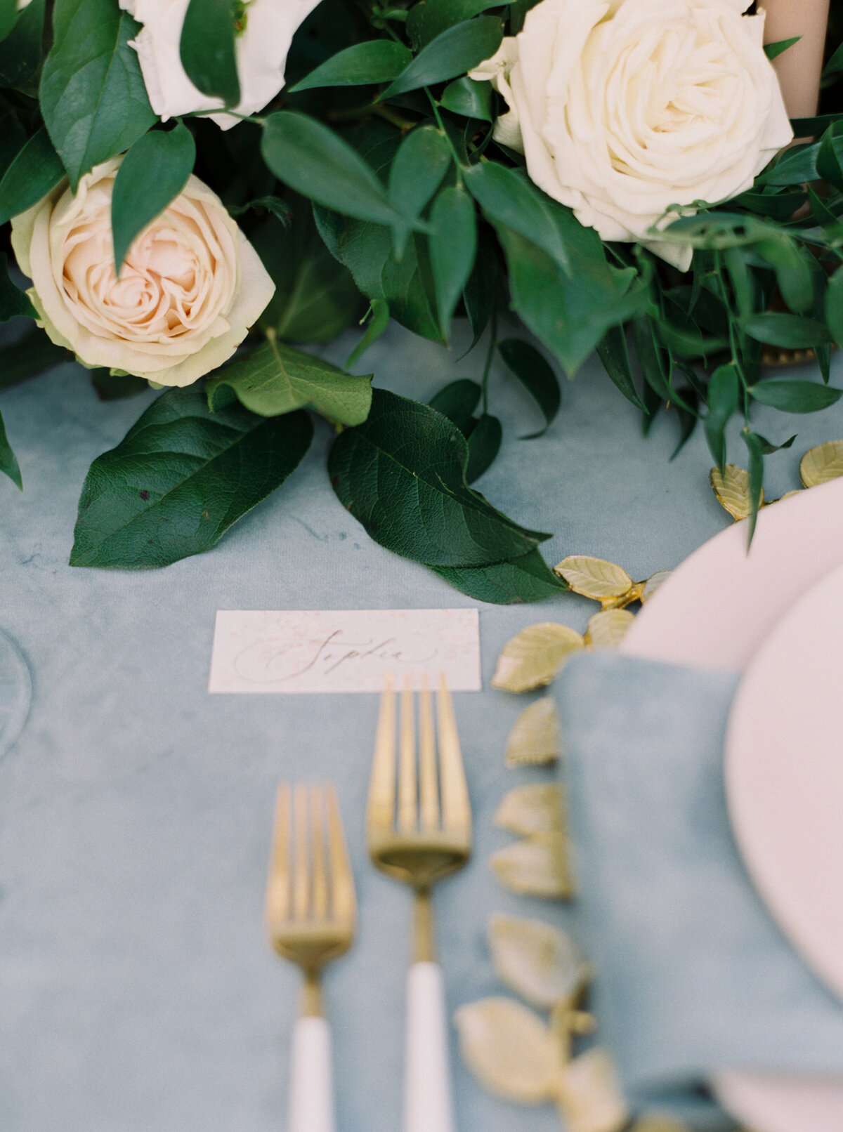
[[[258,323],[289,342],[331,342],[360,306],[360,293],[348,269],[331,255],[306,201],[284,228],[267,217],[249,240],[275,284]]]

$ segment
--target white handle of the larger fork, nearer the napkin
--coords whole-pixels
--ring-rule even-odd
[[[453,1132],[445,988],[438,963],[414,963],[407,977],[403,1132]]]

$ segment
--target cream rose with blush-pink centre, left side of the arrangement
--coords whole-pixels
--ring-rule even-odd
[[[114,275],[111,191],[121,157],[11,222],[27,294],[53,342],[83,365],[190,385],[221,366],[275,290],[222,201],[195,177],[137,237]]]

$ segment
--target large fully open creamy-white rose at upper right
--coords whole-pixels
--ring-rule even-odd
[[[495,137],[604,240],[654,238],[671,205],[748,189],[793,137],[747,0],[542,0],[523,31],[471,71],[510,112]],[[693,208],[683,209],[692,213]]]

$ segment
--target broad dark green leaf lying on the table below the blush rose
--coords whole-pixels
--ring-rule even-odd
[[[167,566],[219,541],[298,466],[305,412],[212,413],[198,385],[168,389],[88,470],[71,566]]]

